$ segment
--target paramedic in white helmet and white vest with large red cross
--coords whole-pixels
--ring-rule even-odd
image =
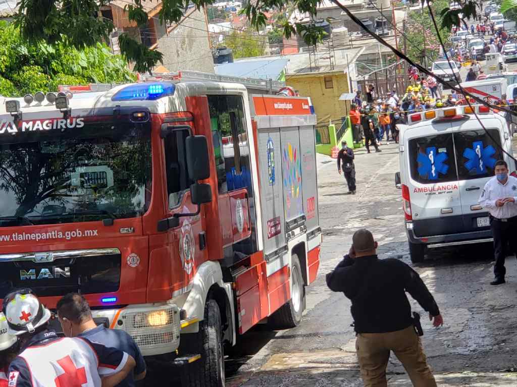
[[[9,293],[4,314],[21,346],[9,366],[9,387],[111,387],[135,366],[126,352],[84,338],[58,337],[49,328],[49,309],[29,289]]]

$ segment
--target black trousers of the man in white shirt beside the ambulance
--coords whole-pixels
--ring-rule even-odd
[[[510,254],[517,253],[517,241],[515,240],[515,230],[517,229],[517,216],[502,222],[496,218],[490,218],[490,228],[494,238],[494,274],[496,278],[504,278],[506,274],[505,256],[507,246]]]

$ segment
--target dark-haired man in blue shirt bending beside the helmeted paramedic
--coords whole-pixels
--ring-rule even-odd
[[[57,302],[56,309],[66,336],[86,338],[131,355],[136,362],[134,373],[128,374],[126,379],[118,384],[119,387],[134,387],[136,380],[145,378],[145,360],[133,338],[123,330],[97,326],[90,306],[83,296],[79,293],[68,293]]]

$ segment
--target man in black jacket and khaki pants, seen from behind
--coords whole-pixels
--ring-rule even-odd
[[[386,386],[390,352],[397,356],[414,386],[436,387],[425,360],[408,292],[429,313],[433,326],[443,325],[438,305],[416,271],[399,259],[379,259],[372,233],[359,229],[352,247],[327,274],[327,286],[352,301],[356,349],[364,387]]]

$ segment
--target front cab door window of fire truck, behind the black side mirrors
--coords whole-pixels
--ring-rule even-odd
[[[167,192],[169,208],[179,205],[181,196],[192,183],[187,170],[185,140],[190,135],[186,129],[175,130],[165,137],[165,167],[167,171]]]

